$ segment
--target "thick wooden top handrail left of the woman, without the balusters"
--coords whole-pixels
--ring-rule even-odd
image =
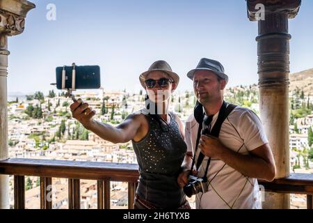
[[[137,164],[17,158],[0,162],[0,174],[125,182],[139,176]]]

